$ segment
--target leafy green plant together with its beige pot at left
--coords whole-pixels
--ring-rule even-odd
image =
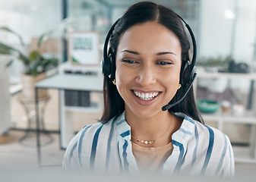
[[[17,36],[21,43],[21,49],[17,49],[0,41],[0,55],[11,55],[13,57],[11,61],[8,62],[7,66],[10,66],[15,58],[24,64],[24,73],[21,75],[21,82],[23,85],[22,98],[33,100],[35,95],[34,83],[46,78],[46,71],[48,71],[49,68],[58,66],[57,58],[46,58],[46,56],[41,54],[39,51],[42,43],[49,38],[53,31],[43,33],[37,42],[37,49],[28,51],[24,40],[19,33],[14,32],[8,27],[0,27],[0,30]],[[39,91],[39,98],[47,96],[48,94],[46,90],[42,89]]]

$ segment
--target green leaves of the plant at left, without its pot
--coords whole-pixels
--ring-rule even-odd
[[[22,39],[21,35],[19,33],[16,33],[12,30],[10,30],[8,27],[0,27],[0,30],[8,32],[13,34],[14,36],[17,36],[19,39],[23,51],[19,49],[15,49],[14,47],[11,47],[10,45],[7,45],[3,42],[0,42],[0,55],[12,55],[14,58],[17,58],[18,60],[22,61],[25,67],[25,74],[32,74],[34,77],[36,77],[37,74],[41,74],[43,72],[46,72],[49,67],[57,67],[58,66],[58,59],[57,58],[45,58],[39,51],[35,50],[28,54],[24,53],[26,50],[26,46],[24,43],[24,40]],[[53,33],[52,31],[49,31],[47,33],[43,33],[43,35],[40,36],[40,39],[37,44],[37,48],[40,49],[40,46],[46,39],[49,39],[49,36]],[[12,59],[10,62],[8,62],[7,66],[10,66],[14,60]]]

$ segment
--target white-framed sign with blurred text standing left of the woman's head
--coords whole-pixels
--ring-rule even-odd
[[[74,64],[99,64],[99,33],[73,32],[69,36],[69,61]]]

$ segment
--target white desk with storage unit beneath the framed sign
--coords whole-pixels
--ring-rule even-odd
[[[68,143],[74,137],[73,111],[99,113],[103,111],[103,74],[100,71],[100,66],[89,67],[69,63],[61,64],[58,66],[58,74],[41,80],[36,83],[35,87],[36,89],[59,90],[60,144],[62,149],[67,148]],[[73,98],[71,98],[71,104],[69,103],[67,105],[65,103],[65,99],[67,99],[65,98],[65,90],[74,90],[77,92],[87,91],[89,93],[95,93],[96,97],[92,96],[90,105],[87,105],[87,107],[81,106],[84,105],[84,102],[78,102],[80,106],[74,106],[73,104],[77,102],[73,102]],[[39,113],[36,111],[36,118],[39,118],[38,115]],[[39,119],[36,119],[36,121],[38,123]]]

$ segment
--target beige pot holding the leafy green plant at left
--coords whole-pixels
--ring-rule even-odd
[[[28,74],[21,75],[21,83],[23,86],[21,92],[21,98],[23,100],[34,101],[35,100],[35,83],[46,78],[46,73],[38,74],[36,77]],[[38,89],[38,99],[48,97],[47,89]]]

